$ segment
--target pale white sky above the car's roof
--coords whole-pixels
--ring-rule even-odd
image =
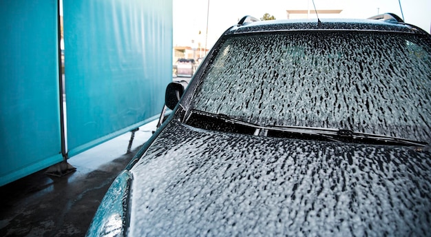
[[[402,13],[400,10],[400,2]],[[208,8],[209,3],[209,8]],[[431,0],[314,0],[317,10],[342,10],[337,18],[366,19],[384,12],[397,14],[426,32],[431,29]],[[312,0],[173,0],[174,46],[211,48],[220,35],[245,15],[269,13],[287,19],[286,10],[313,10]],[[207,34],[207,13],[208,34]],[[319,18],[334,17],[319,14]],[[311,16],[315,19],[315,16]],[[200,34],[199,34],[200,32]],[[192,41],[194,43],[192,43]]]

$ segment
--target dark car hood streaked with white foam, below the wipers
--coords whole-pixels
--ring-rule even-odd
[[[131,169],[129,234],[426,236],[430,157],[171,121]]]

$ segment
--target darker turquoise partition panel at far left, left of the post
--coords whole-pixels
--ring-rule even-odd
[[[0,1],[0,186],[63,161],[56,0]]]

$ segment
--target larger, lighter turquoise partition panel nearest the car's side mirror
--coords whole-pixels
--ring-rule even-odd
[[[69,156],[160,114],[172,0],[63,0]]]

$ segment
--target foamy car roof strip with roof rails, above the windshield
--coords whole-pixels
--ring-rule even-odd
[[[377,15],[369,19],[287,19],[272,21],[259,21],[254,17],[246,16],[243,17],[237,25],[233,25],[224,32],[224,34],[291,30],[355,30],[428,34],[415,25],[404,23],[401,18],[392,13]]]

